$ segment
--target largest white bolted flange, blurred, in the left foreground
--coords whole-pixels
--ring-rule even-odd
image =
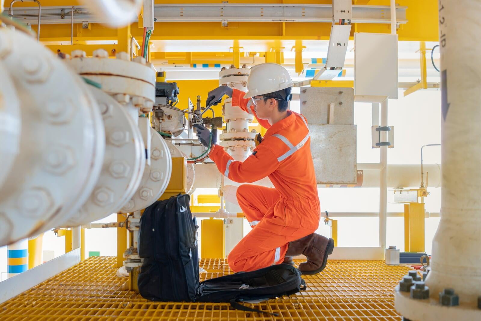
[[[12,76],[23,125],[21,152],[0,190],[4,245],[75,215],[97,182],[105,141],[88,85],[37,40],[0,28],[0,59]]]

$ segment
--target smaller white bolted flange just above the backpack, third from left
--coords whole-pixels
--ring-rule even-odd
[[[167,143],[153,128],[151,131],[151,165],[146,166],[139,188],[122,208],[134,212],[152,205],[165,192],[172,173],[172,158]]]

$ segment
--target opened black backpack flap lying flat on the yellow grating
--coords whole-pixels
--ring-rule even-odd
[[[194,301],[230,302],[230,306],[235,309],[277,316],[276,313],[249,308],[239,302],[258,303],[305,289],[305,282],[299,270],[289,264],[278,264],[203,281],[199,285]]]

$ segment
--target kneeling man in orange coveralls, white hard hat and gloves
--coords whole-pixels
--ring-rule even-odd
[[[216,144],[209,154],[230,180],[252,183],[268,176],[275,186],[243,184],[237,189],[239,205],[253,230],[227,257],[229,267],[236,272],[280,263],[293,265],[293,256],[305,255],[307,261],[299,270],[316,274],[325,268],[334,247],[334,240],[314,233],[320,206],[311,140],[305,117],[287,110],[292,85],[284,67],[266,63],[251,69],[247,93],[220,86],[208,94],[206,107],[228,95],[233,106],[254,115],[267,128],[262,142],[243,162],[234,161]],[[200,141],[208,146],[209,130],[194,126]]]

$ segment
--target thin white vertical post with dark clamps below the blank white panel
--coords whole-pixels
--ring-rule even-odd
[[[388,98],[381,103],[380,126],[388,126]],[[380,132],[380,141],[388,141],[388,132]],[[379,246],[386,248],[387,204],[388,204],[388,146],[380,146],[379,173]]]

